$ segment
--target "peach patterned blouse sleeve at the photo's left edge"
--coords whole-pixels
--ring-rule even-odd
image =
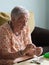
[[[0,28],[0,54],[7,53],[10,49],[10,40],[5,30]]]

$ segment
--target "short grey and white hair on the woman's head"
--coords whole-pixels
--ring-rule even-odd
[[[26,14],[27,17],[29,17],[29,11],[23,7],[16,6],[11,11],[11,16],[13,16],[14,18],[19,17],[19,15],[22,15],[22,14]]]

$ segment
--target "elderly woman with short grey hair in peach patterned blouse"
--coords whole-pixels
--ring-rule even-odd
[[[29,12],[22,7],[11,11],[11,21],[0,26],[0,59],[16,59],[42,54],[42,48],[31,41],[27,25]]]

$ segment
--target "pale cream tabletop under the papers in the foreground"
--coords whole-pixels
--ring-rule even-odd
[[[49,59],[43,58],[43,61],[41,62],[41,64],[36,64],[36,63],[31,63],[33,59],[24,61],[24,62],[20,62],[20,63],[16,63],[14,65],[49,65]]]

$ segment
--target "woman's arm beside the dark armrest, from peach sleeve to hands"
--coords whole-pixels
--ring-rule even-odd
[[[25,34],[25,43],[24,44],[26,44],[26,48],[24,50],[24,54],[26,54],[26,55],[29,55],[29,56],[37,55],[37,56],[39,56],[43,52],[43,49],[41,47],[36,47],[36,45],[34,45],[32,43],[29,28],[27,28],[27,31]]]

